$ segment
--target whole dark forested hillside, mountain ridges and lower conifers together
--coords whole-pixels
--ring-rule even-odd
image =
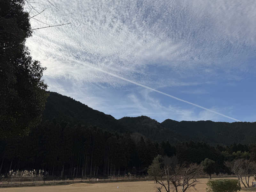
[[[255,123],[159,123],[147,116],[117,120],[49,93],[40,124],[23,138],[0,140],[0,175],[34,169],[45,170],[47,176],[146,174],[158,154],[175,155],[181,163],[200,164],[209,158],[215,161],[216,172],[229,172],[225,161],[256,159]],[[217,145],[233,141],[248,144]]]

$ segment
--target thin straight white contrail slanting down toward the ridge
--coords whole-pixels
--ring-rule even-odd
[[[72,59],[72,60],[73,60],[73,59]],[[77,62],[77,60],[76,60],[76,62]],[[79,62],[81,62],[81,61],[79,61]],[[81,62],[81,63],[82,63],[82,62]],[[83,65],[86,65],[86,64],[83,63]],[[173,99],[182,101],[182,102],[184,102],[184,103],[188,103],[188,104],[190,104],[190,105],[194,105],[194,106],[196,106],[196,107],[198,107],[198,108],[202,108],[202,109],[204,109],[204,110],[206,110],[206,111],[210,111],[210,112],[212,112],[212,113],[218,114],[218,115],[223,116],[223,117],[227,117],[227,118],[232,119],[232,120],[235,120],[235,121],[240,121],[240,120],[235,119],[235,118],[233,118],[233,117],[226,116],[226,115],[224,115],[224,114],[222,114],[222,113],[218,113],[218,112],[216,112],[216,111],[213,111],[213,110],[211,110],[211,109],[205,108],[205,107],[200,106],[200,105],[197,105],[197,104],[195,104],[195,103],[191,103],[191,102],[189,102],[189,101],[180,99],[180,98],[178,98],[178,97],[172,96],[172,95],[167,94],[167,93],[165,93],[165,92],[158,91],[158,90],[153,89],[153,88],[151,88],[151,87],[148,87],[148,86],[146,86],[146,85],[143,85],[143,84],[140,84],[140,83],[131,81],[131,80],[129,80],[129,79],[126,79],[126,78],[124,78],[124,77],[118,76],[118,75],[116,75],[116,74],[110,73],[110,72],[108,72],[108,71],[104,71],[104,70],[102,70],[102,69],[100,69],[100,68],[92,67],[92,66],[89,66],[89,65],[86,65],[86,66],[89,67],[89,68],[92,68],[92,69],[94,69],[94,70],[100,71],[100,72],[102,72],[102,73],[105,73],[105,74],[114,76],[114,77],[116,77],[116,78],[122,79],[122,80],[124,80],[124,81],[130,82],[130,83],[132,83],[132,84],[138,85],[138,86],[140,86],[140,87],[144,87],[144,88],[149,89],[149,90],[151,90],[151,91],[158,92],[158,93],[160,93],[160,94],[166,95],[166,96],[171,97],[171,98],[173,98]]]

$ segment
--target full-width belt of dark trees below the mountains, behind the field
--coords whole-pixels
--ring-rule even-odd
[[[10,170],[47,171],[48,176],[145,174],[158,154],[176,155],[179,162],[216,164],[216,173],[230,172],[225,161],[255,158],[254,145],[213,147],[202,142],[153,142],[131,133],[104,131],[96,126],[45,121],[22,139],[0,141],[0,174]],[[251,151],[251,152],[250,152]]]

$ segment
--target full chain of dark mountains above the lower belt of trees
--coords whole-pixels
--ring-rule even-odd
[[[139,133],[154,141],[202,141],[211,145],[256,142],[256,122],[174,121],[162,123],[147,116],[115,119],[70,97],[49,92],[43,120],[65,120],[72,125],[96,126],[117,133]]]

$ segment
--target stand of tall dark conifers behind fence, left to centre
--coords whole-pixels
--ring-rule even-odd
[[[168,148],[170,147],[170,149]],[[146,173],[158,151],[173,155],[167,142],[132,139],[93,126],[72,126],[61,121],[45,121],[23,139],[1,141],[1,173],[10,170],[39,170],[53,175],[118,175]]]

